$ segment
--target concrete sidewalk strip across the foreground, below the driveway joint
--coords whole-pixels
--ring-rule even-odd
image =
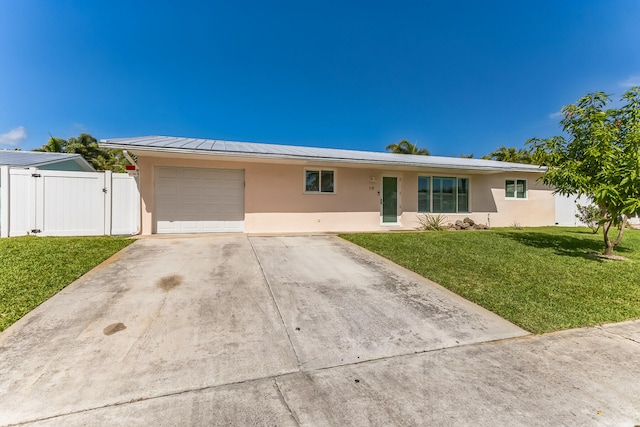
[[[256,379],[37,426],[629,426],[640,321]]]

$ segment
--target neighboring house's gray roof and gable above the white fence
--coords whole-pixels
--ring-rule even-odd
[[[0,166],[44,170],[95,172],[80,154],[0,150]]]

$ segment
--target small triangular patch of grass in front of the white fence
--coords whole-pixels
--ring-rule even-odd
[[[0,239],[0,332],[132,242],[116,237]]]

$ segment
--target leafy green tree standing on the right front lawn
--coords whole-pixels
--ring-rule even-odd
[[[562,108],[566,138],[527,142],[548,167],[542,182],[565,196],[586,195],[600,208],[605,255],[612,255],[622,240],[627,216],[640,209],[640,87],[621,100],[621,107],[606,109],[608,95],[585,95]],[[611,240],[614,226],[618,236]]]

